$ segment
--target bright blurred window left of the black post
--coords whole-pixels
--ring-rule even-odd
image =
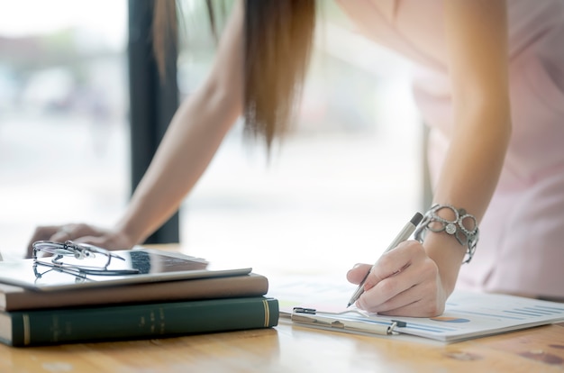
[[[0,0],[0,251],[129,198],[127,2]]]

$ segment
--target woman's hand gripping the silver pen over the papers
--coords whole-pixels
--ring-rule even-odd
[[[347,279],[359,284],[371,266],[359,264]],[[356,305],[368,312],[431,317],[442,314],[447,297],[439,268],[418,241],[405,241],[384,254],[368,274]]]

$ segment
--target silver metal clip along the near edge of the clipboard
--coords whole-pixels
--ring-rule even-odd
[[[392,320],[391,322],[361,323],[348,320],[340,314],[338,317],[332,314],[318,313],[314,308],[294,307],[291,319],[293,323],[301,323],[308,327],[314,327],[334,332],[354,332],[377,335],[397,335],[396,328],[403,328],[407,323]]]

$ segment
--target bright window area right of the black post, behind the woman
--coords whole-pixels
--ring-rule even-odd
[[[242,140],[241,123],[232,129],[181,210],[190,254],[259,273],[342,275],[377,259],[421,209],[422,125],[408,65],[323,4],[296,132],[268,161],[261,144]],[[190,39],[178,85],[187,96],[205,77],[214,43],[202,42],[203,2],[186,2],[184,14]]]

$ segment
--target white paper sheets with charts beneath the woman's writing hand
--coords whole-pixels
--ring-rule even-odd
[[[349,289],[348,293],[346,288]],[[309,294],[300,293],[301,290]],[[335,287],[327,282],[322,282],[316,287],[312,283],[299,284],[291,281],[286,287],[272,288],[269,295],[277,296],[281,313],[291,314],[292,310],[289,308],[299,306],[315,310],[315,314],[324,319],[332,318],[342,323],[365,323],[368,326],[403,322],[405,326],[396,327],[396,332],[446,342],[564,321],[564,304],[519,296],[463,291],[455,291],[450,296],[444,314],[438,317],[383,316],[369,314],[355,307],[346,308],[351,291],[354,289],[350,290],[350,287],[346,286]]]

